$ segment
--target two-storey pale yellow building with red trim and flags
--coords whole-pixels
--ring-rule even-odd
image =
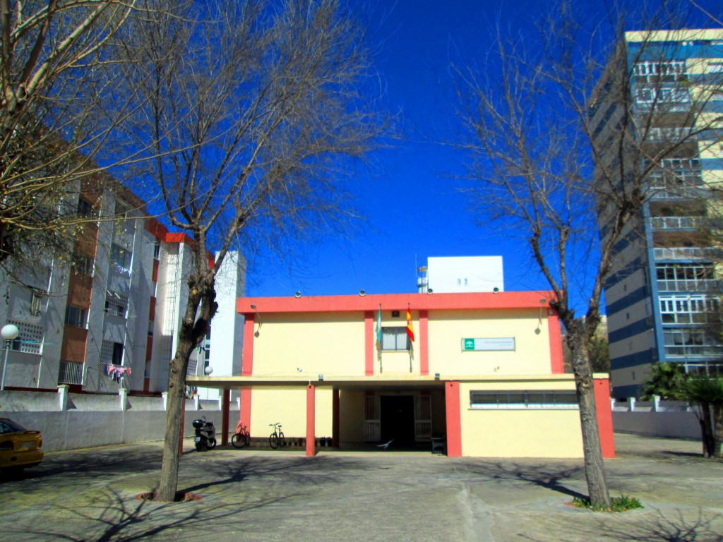
[[[432,449],[450,457],[582,457],[575,382],[564,374],[551,292],[239,298],[242,373],[189,384],[241,390],[252,438]],[[595,392],[614,457],[607,375]],[[231,423],[235,423],[232,421]],[[316,446],[315,446],[316,444]]]

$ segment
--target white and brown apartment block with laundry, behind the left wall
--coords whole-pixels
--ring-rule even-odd
[[[20,332],[7,351],[6,389],[168,389],[193,240],[168,232],[144,214],[143,202],[121,194],[124,199],[108,189],[80,195],[79,212],[98,221],[77,235],[71,257],[40,258],[20,280],[0,272],[0,324]],[[126,218],[112,220],[119,216]],[[203,374],[208,362],[215,374],[240,374],[243,317],[227,306],[235,309],[244,295],[244,276],[243,259],[231,254],[218,281],[213,326],[221,332],[194,351],[189,374]]]

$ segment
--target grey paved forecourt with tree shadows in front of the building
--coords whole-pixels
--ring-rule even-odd
[[[586,492],[580,460],[186,444],[179,489],[199,502],[135,499],[160,444],[55,452],[0,480],[0,541],[723,541],[723,462],[698,442],[616,434],[612,494],[645,506],[623,514],[568,505]]]

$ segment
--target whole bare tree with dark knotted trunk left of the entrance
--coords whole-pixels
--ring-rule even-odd
[[[342,1],[200,4],[149,17],[127,36],[135,61],[125,77],[145,105],[124,138],[150,158],[134,178],[194,241],[168,383],[163,501],[177,489],[189,356],[216,312],[228,251],[241,234],[277,244],[343,228],[351,207],[340,181],[388,126],[364,95],[369,50]],[[218,254],[210,265],[209,250]]]

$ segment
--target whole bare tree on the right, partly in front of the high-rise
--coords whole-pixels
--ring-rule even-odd
[[[712,144],[705,134],[721,119],[706,112],[714,85],[698,86],[690,98],[690,80],[669,62],[673,46],[643,32],[628,47],[620,14],[611,15],[612,28],[583,29],[578,21],[586,18],[572,4],[562,2],[555,17],[524,40],[498,30],[487,71],[455,68],[455,79],[470,134],[460,143],[471,156],[470,190],[486,220],[522,232],[555,293],[549,305],[567,331],[589,496],[607,508],[586,355],[600,322],[603,288],[611,273],[630,272],[617,247],[621,241],[643,243],[643,207],[653,194],[672,186],[705,189],[667,159]],[[635,24],[680,27],[662,11]],[[643,95],[643,85],[634,83],[644,63],[657,69],[646,75]]]

